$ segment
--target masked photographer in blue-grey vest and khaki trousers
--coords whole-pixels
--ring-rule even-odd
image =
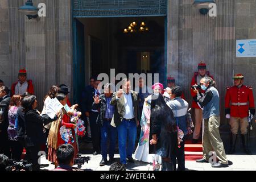
[[[200,85],[201,89],[205,91],[204,94],[194,89],[197,101],[204,108],[203,159],[196,162],[208,163],[209,152],[214,151],[219,162],[212,164],[212,167],[228,167],[228,159],[218,130],[220,126],[220,96],[218,90],[214,88],[214,84],[212,78],[202,78]]]

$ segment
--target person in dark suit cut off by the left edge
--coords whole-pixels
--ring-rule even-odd
[[[9,88],[2,86],[0,88],[0,154],[10,157],[10,144],[8,140],[7,129],[9,126],[8,110],[11,98],[9,97]]]

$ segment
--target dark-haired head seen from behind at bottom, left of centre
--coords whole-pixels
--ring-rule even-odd
[[[53,171],[73,171],[74,165],[74,147],[71,144],[62,144],[57,148],[58,166]]]

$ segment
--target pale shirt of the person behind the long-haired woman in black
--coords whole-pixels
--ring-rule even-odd
[[[173,100],[168,101],[166,104],[171,107],[174,117],[181,117],[187,114],[188,102],[180,97],[176,97]]]

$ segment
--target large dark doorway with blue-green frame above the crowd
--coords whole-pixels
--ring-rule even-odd
[[[159,73],[166,78],[167,0],[72,1],[73,98],[90,76]],[[126,33],[135,22],[136,31]],[[141,24],[148,31],[139,31]],[[161,80],[162,79],[162,80]]]

